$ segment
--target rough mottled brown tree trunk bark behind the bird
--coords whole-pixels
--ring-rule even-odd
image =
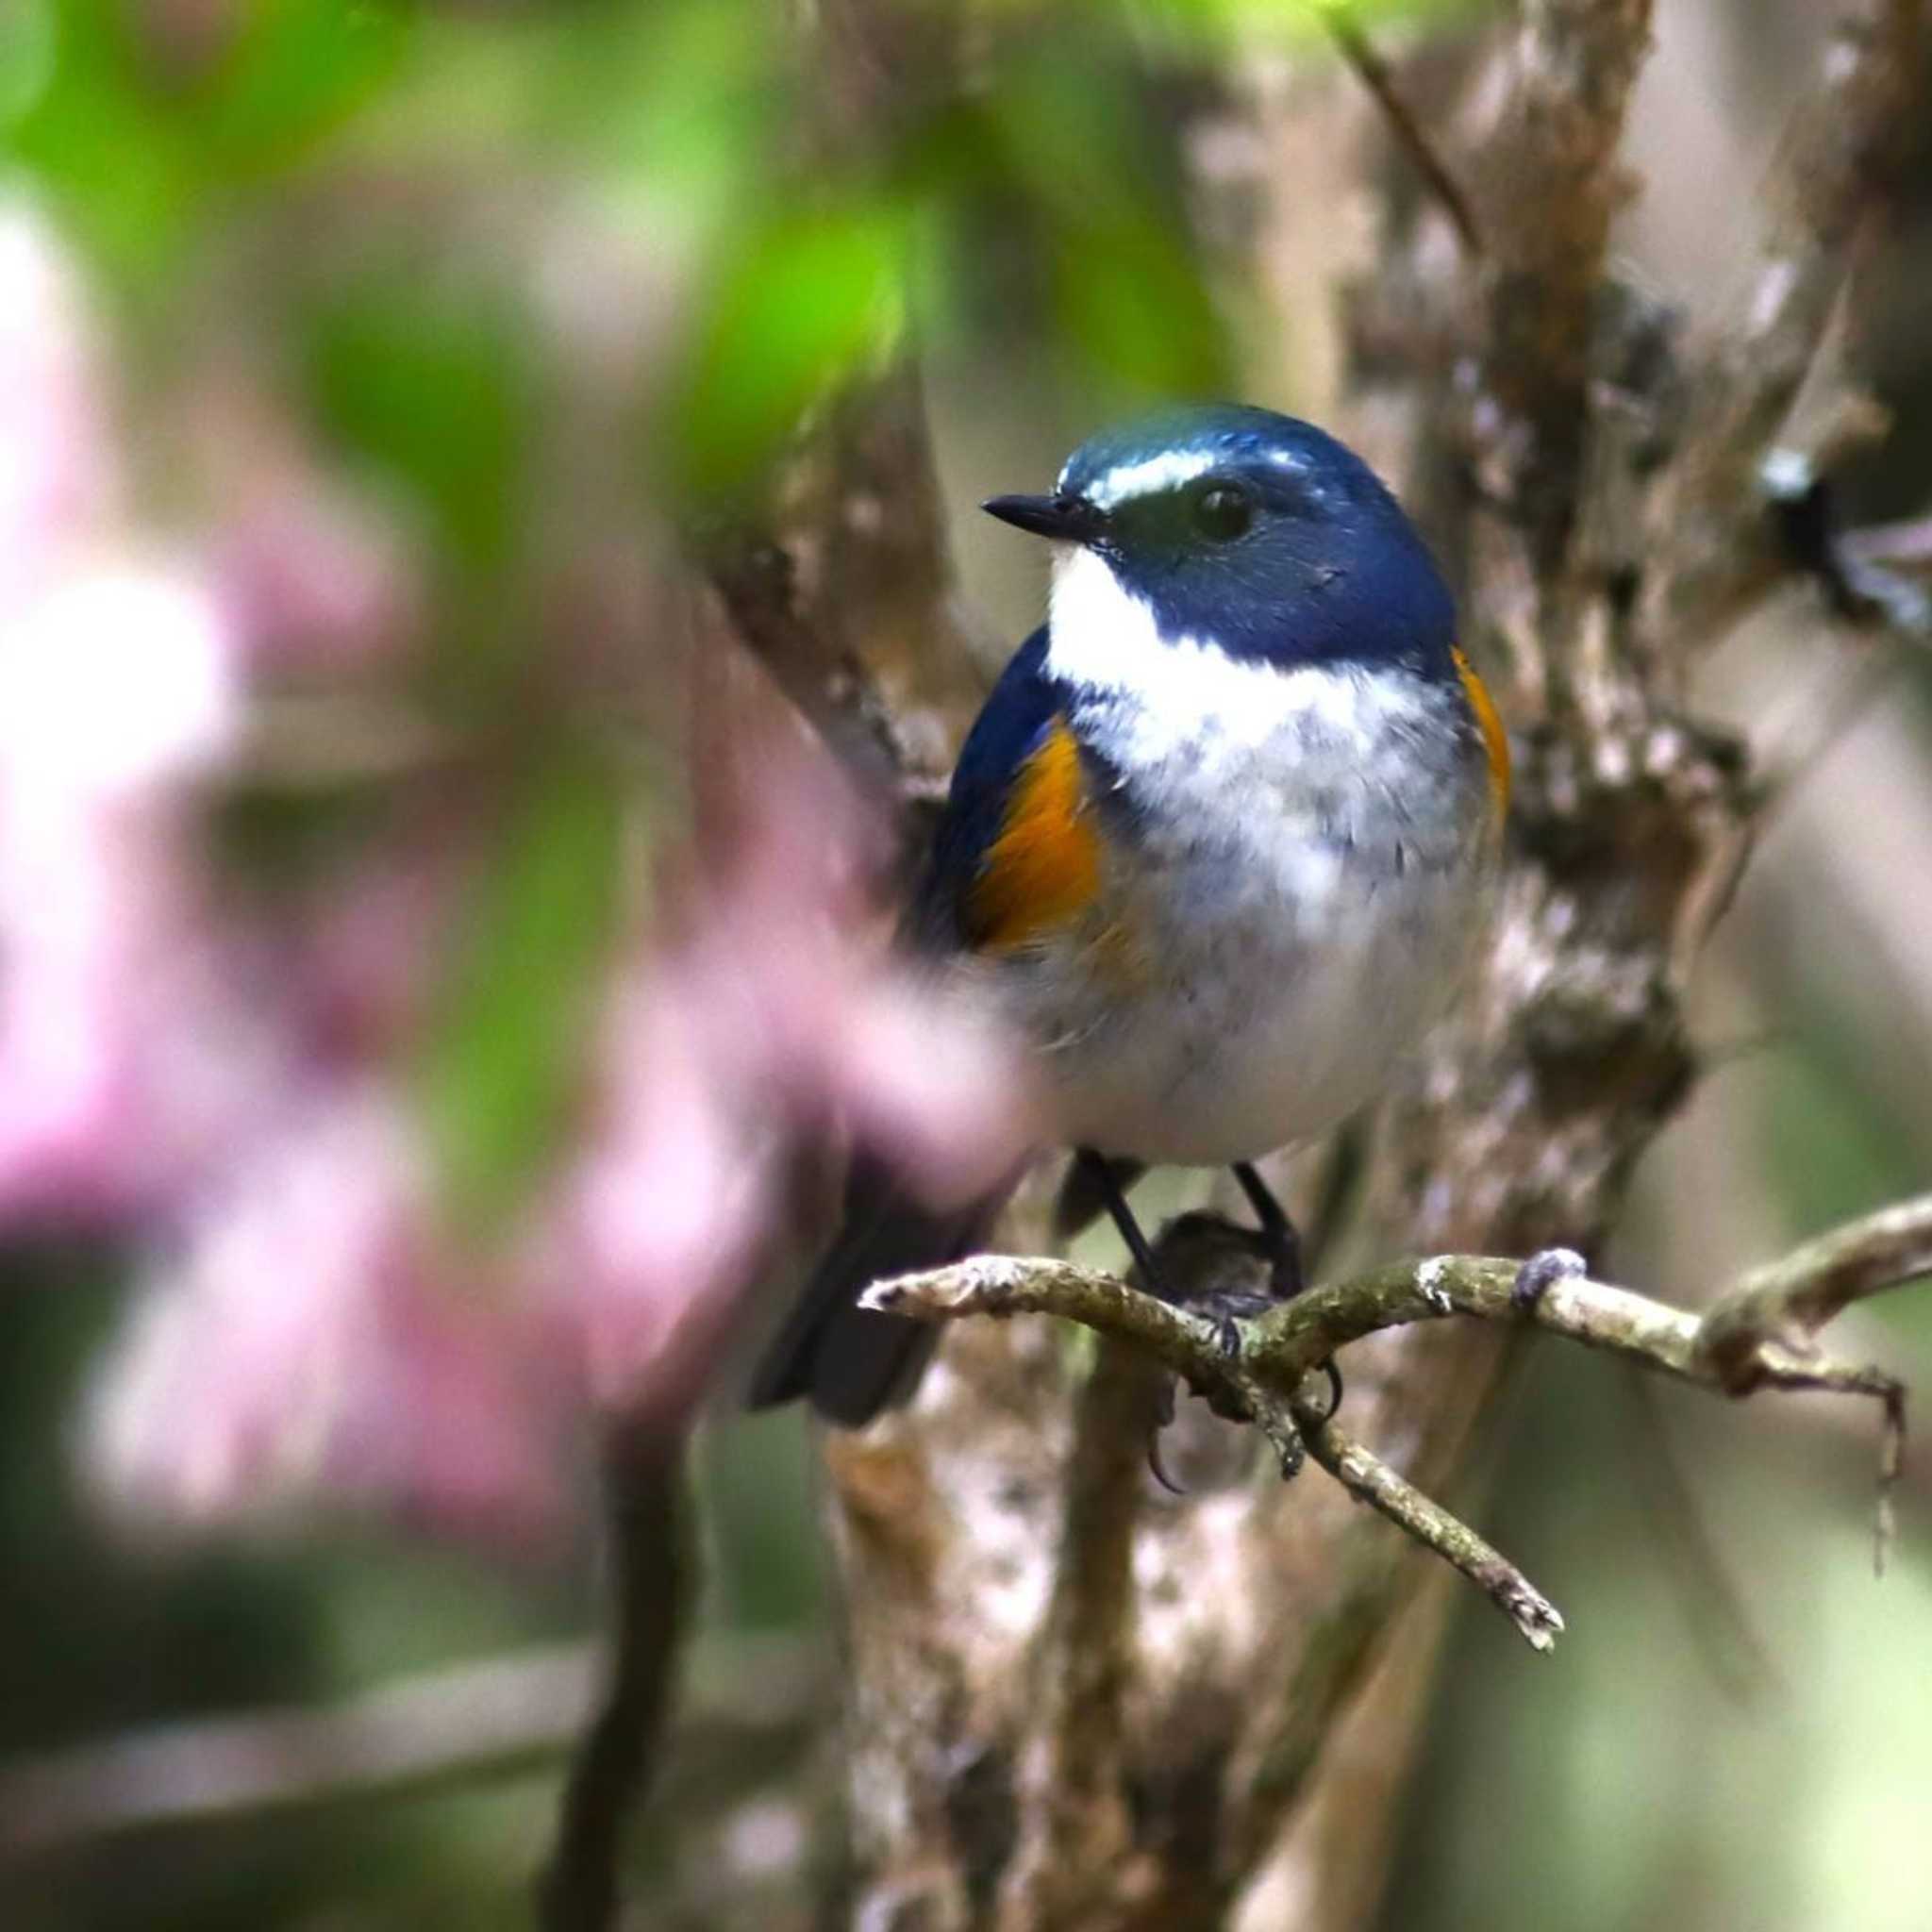
[[[879,44],[852,39],[866,12],[837,10],[838,44]],[[1530,4],[1468,77],[1482,164],[1447,166],[1474,189],[1480,257],[1443,245],[1428,203],[1383,226],[1339,427],[1408,483],[1464,587],[1517,794],[1493,947],[1376,1119],[1370,1254],[1594,1252],[1692,1082],[1685,981],[1758,796],[1745,748],[1683,709],[1685,670],[1772,582],[1758,466],[1851,265],[1917,15],[1843,10],[1762,286],[1708,348],[1605,272],[1644,0]],[[875,81],[867,68],[854,87],[885,114]],[[1231,85],[1223,112],[1264,99]],[[1265,174],[1267,116],[1250,131]],[[1269,184],[1248,185],[1265,245]],[[838,545],[840,601],[848,582],[887,585],[891,618],[864,634],[840,618],[840,649],[790,680],[819,680],[808,709],[850,715],[833,680],[858,663],[866,703],[956,717],[958,630],[922,439],[896,413],[908,394],[893,379],[854,398],[823,446],[817,529]],[[925,535],[883,531],[881,502]],[[1022,1211],[1007,1238],[1034,1248],[1039,1225]],[[1474,1321],[1354,1343],[1350,1434],[1453,1492],[1503,1352],[1505,1329]],[[1422,1594],[1424,1559],[1337,1484],[1283,1484],[1200,1405],[1167,1451],[1186,1493],[1161,1493],[1140,1461],[1150,1403],[1121,1345],[970,1323],[908,1412],[827,1437],[852,1922],[1337,1932],[1372,1909],[1439,1586]]]

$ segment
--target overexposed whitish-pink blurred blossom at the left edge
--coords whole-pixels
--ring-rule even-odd
[[[240,738],[240,641],[189,566],[116,535],[79,296],[17,205],[0,357],[0,1213],[95,1217],[255,1084],[193,815]]]

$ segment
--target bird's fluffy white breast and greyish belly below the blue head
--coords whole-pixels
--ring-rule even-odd
[[[1047,661],[1128,827],[1113,951],[1088,933],[1009,976],[1066,1140],[1217,1165],[1327,1130],[1453,997],[1484,906],[1493,840],[1455,699],[1163,639],[1084,551],[1057,564]]]

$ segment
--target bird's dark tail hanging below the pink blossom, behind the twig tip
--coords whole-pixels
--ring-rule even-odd
[[[752,1408],[808,1395],[829,1422],[856,1430],[881,1408],[906,1401],[939,1329],[860,1308],[858,1296],[889,1275],[945,1267],[972,1254],[1007,1192],[935,1213],[912,1202],[881,1163],[860,1157],[846,1180],[844,1217],[831,1252],[752,1376]]]

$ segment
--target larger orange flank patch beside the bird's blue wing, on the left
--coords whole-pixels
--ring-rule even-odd
[[[999,837],[972,887],[974,943],[1024,947],[1080,918],[1099,895],[1099,831],[1088,808],[1080,744],[1055,719],[1020,767]]]

